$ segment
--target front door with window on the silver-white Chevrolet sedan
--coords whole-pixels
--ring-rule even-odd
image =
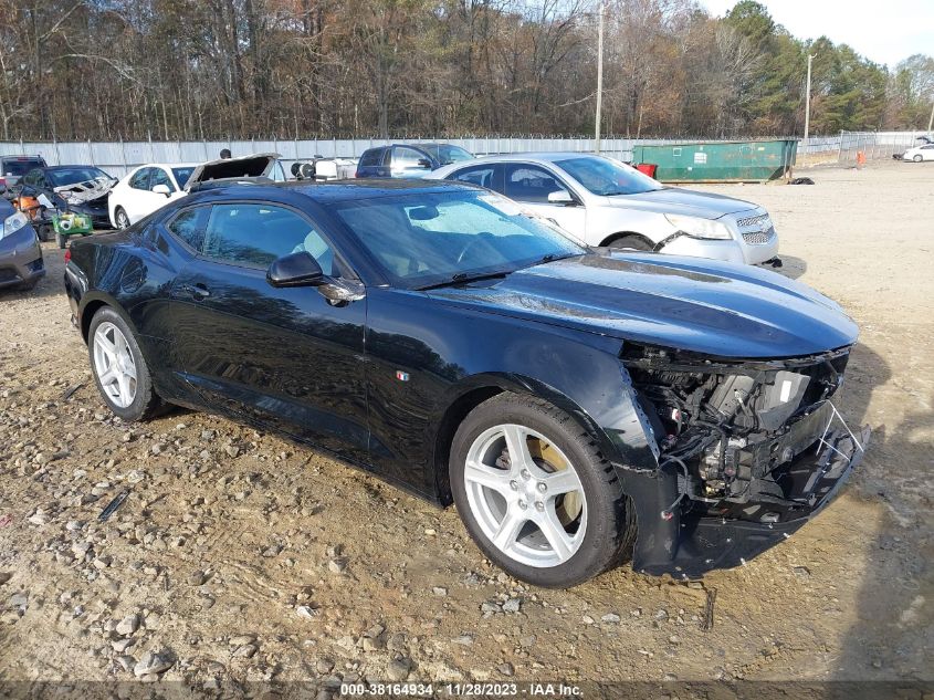
[[[502,192],[544,219],[554,221],[580,240],[587,237],[587,210],[562,179],[533,163],[506,163]],[[552,202],[548,196],[563,192],[568,201]]]

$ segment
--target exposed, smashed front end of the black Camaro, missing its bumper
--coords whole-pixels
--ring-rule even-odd
[[[697,578],[744,564],[832,499],[870,435],[831,400],[849,353],[737,361],[623,347],[658,460],[653,473],[622,470],[639,519],[637,571]]]

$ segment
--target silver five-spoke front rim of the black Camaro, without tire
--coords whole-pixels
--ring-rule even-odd
[[[483,534],[510,558],[534,567],[564,564],[580,548],[587,500],[570,460],[544,435],[494,426],[471,445],[468,503]]]

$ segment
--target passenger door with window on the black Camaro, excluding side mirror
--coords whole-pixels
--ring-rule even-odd
[[[366,461],[366,301],[335,305],[311,286],[273,288],[266,270],[307,251],[351,276],[317,224],[285,207],[216,203],[199,254],[171,289],[175,353],[219,410]]]

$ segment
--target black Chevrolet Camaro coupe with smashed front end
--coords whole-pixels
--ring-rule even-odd
[[[588,249],[426,181],[196,191],[75,241],[74,321],[124,420],[274,430],[458,512],[512,575],[699,577],[800,527],[859,461],[857,328],[776,273]]]

